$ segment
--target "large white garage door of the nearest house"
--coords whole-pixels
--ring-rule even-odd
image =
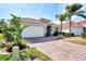
[[[23,33],[22,37],[23,38],[28,38],[28,37],[44,37],[44,27],[41,26],[29,26],[26,27]]]

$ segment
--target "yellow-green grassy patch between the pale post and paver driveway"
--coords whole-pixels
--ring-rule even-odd
[[[24,57],[35,59],[38,57],[41,61],[52,61],[51,57],[45,53],[38,51],[36,48],[30,48],[23,53]]]

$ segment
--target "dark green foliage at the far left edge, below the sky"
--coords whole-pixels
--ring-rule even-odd
[[[8,24],[5,23],[4,18],[0,20],[0,28],[1,28],[1,34],[3,35],[3,37],[5,38],[5,41],[13,41],[12,38],[12,28],[10,26],[8,26]]]

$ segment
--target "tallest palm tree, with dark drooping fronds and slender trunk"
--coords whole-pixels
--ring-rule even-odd
[[[71,22],[72,22],[71,18],[72,18],[72,16],[76,15],[76,16],[82,16],[82,17],[86,18],[85,11],[81,11],[82,8],[83,8],[83,5],[79,3],[74,3],[74,4],[65,7],[65,10],[67,13],[67,18],[70,22],[70,37],[71,37]]]

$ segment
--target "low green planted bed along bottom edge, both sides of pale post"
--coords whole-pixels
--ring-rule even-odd
[[[12,61],[12,53],[10,54],[0,54],[0,61]],[[52,61],[51,57],[45,53],[38,51],[36,48],[29,48],[24,51],[20,51],[20,57],[22,61]],[[15,60],[13,60],[15,61]]]

